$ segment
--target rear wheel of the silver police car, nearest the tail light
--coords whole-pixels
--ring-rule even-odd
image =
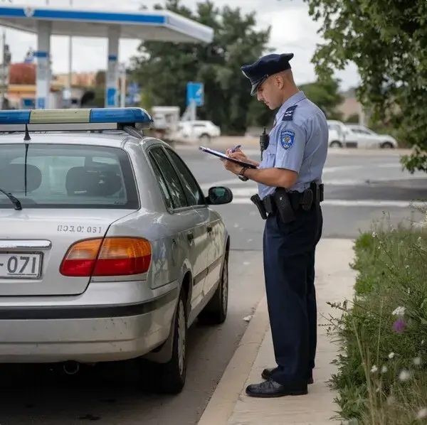
[[[184,291],[179,295],[174,324],[172,358],[167,363],[155,365],[155,387],[163,394],[179,394],[186,380],[187,315]]]

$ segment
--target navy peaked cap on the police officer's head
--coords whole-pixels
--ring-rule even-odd
[[[259,58],[256,62],[250,65],[243,65],[241,71],[243,75],[251,81],[251,95],[255,95],[261,84],[267,80],[270,75],[278,72],[289,70],[289,61],[293,58],[293,53],[282,53],[278,55],[272,53]]]

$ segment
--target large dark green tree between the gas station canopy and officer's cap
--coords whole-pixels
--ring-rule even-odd
[[[177,105],[184,112],[187,82],[204,82],[204,106],[197,109],[201,119],[210,119],[231,134],[243,133],[248,119],[253,125],[262,125],[270,112],[264,106],[260,113],[253,106],[257,101],[251,97],[251,85],[240,67],[265,53],[270,28],[255,28],[255,12],[243,16],[239,8],[220,10],[209,0],[199,2],[195,13],[180,0],[167,0],[164,8],[214,28],[214,41],[209,45],[142,43],[132,60],[132,78],[141,84],[150,102]],[[163,7],[157,4],[154,9]]]

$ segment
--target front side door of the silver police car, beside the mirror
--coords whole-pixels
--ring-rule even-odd
[[[221,260],[224,246],[223,225],[219,217],[212,214],[210,208],[206,205],[204,194],[201,191],[199,183],[197,183],[196,178],[186,166],[186,163],[184,163],[181,157],[176,154],[176,152],[172,151],[172,149],[167,148],[166,150],[172,158],[176,166],[176,171],[179,173],[183,182],[184,189],[189,197],[189,203],[199,213],[202,222],[206,225],[207,238],[205,252],[207,259],[207,274],[204,283],[205,295],[218,283],[221,275]]]

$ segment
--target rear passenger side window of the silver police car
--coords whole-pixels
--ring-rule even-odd
[[[164,178],[164,183],[169,190],[172,198],[173,208],[188,207],[184,189],[182,188],[179,177],[176,174],[172,163],[169,162],[166,153],[162,148],[154,148],[149,151],[150,156],[154,159]]]

